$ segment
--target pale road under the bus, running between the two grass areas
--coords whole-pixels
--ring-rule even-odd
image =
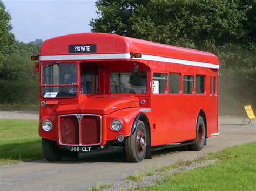
[[[208,138],[202,151],[179,151],[179,148],[156,151],[152,159],[139,164],[127,162],[123,151],[99,151],[61,162],[42,159],[3,165],[0,166],[0,190],[84,190],[98,183],[123,180],[125,173],[145,170],[147,164],[157,168],[159,164],[174,164],[225,147],[255,142],[256,120],[253,126],[241,125],[241,122],[240,117],[219,117],[220,135]]]

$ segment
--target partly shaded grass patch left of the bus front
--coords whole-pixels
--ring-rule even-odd
[[[0,165],[43,158],[38,121],[0,119]]]

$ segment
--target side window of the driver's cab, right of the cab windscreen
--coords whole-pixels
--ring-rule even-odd
[[[80,65],[80,92],[81,94],[99,93],[98,66],[91,63],[81,63]]]

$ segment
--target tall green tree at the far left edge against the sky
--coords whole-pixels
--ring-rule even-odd
[[[11,16],[5,10],[4,3],[0,0],[0,65],[4,61],[5,48],[14,43],[14,34],[11,33]]]

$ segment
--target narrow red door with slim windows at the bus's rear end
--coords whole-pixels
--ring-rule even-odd
[[[210,133],[218,133],[218,70],[210,70]]]

